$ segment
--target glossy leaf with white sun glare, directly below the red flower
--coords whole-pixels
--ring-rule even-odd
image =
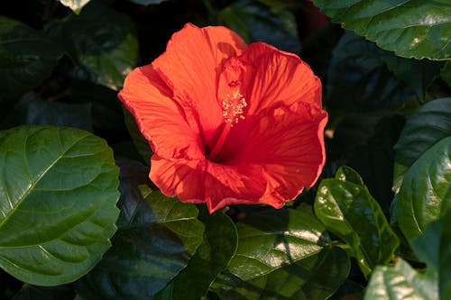
[[[236,224],[238,249],[228,269],[242,280],[318,253],[329,242],[324,226],[293,209],[263,210]]]

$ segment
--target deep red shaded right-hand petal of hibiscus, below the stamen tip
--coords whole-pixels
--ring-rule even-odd
[[[326,161],[326,123],[327,113],[314,105],[298,102],[275,108],[244,132],[245,143],[227,141],[238,147],[227,164],[261,164],[267,186],[260,203],[280,208],[317,181]]]

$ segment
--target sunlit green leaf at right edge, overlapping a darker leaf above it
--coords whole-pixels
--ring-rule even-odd
[[[424,152],[405,174],[397,195],[400,230],[411,239],[451,208],[451,136]]]

